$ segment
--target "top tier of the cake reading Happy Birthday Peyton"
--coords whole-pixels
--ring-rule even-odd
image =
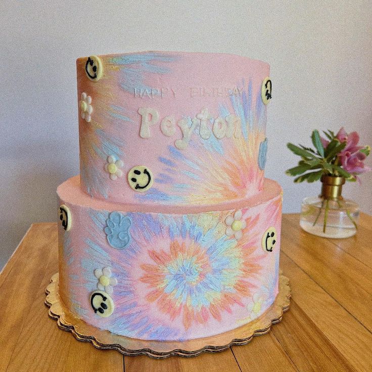
[[[268,64],[227,54],[79,58],[82,190],[149,205],[214,205],[258,194],[268,75]]]

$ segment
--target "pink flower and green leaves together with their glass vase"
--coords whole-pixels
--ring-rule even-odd
[[[311,141],[314,149],[287,144],[288,148],[301,157],[298,165],[286,171],[296,176],[294,181],[322,182],[321,194],[315,198],[305,198],[302,203],[300,225],[311,234],[341,238],[355,234],[358,206],[343,199],[342,185],[345,181],[360,182],[359,174],[370,171],[364,160],[370,153],[369,146],[358,146],[357,132],[346,133],[342,127],[337,134],[313,130]]]

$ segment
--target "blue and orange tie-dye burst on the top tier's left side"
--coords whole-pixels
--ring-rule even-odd
[[[84,60],[77,61],[78,97],[80,90],[94,97],[90,122],[79,119],[80,176],[89,195],[106,199],[114,192],[115,183],[107,179],[104,166],[110,155],[125,159],[123,127],[133,123],[133,117],[138,115],[118,102],[116,84],[128,93],[132,92],[130,86],[147,88],[146,74],[166,73],[168,69],[157,63],[171,61],[173,58],[157,53],[112,57],[105,60],[104,74],[99,82],[87,79]]]

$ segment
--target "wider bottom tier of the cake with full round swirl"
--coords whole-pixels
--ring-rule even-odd
[[[157,341],[227,332],[278,293],[282,189],[213,206],[118,205],[58,188],[59,294],[101,330]]]

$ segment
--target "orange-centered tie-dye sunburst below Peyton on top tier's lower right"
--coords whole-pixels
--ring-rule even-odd
[[[226,200],[243,199],[262,190],[263,170],[258,166],[260,143],[265,138],[266,113],[260,97],[252,105],[252,83],[248,97],[231,97],[234,113],[240,118],[241,137],[228,138],[223,143],[211,136],[203,140],[195,130],[184,152],[168,146],[167,153],[158,158],[162,171],[155,178],[154,187],[138,200],[169,204],[217,204]],[[219,115],[229,115],[227,107],[220,106]],[[191,123],[191,117],[189,117]],[[167,185],[168,190],[159,188]]]

